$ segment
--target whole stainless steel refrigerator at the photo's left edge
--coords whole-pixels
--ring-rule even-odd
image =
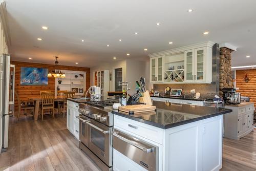
[[[11,103],[14,101],[14,89],[10,94],[10,86],[14,87],[10,84],[10,55],[3,54],[0,57],[0,152],[8,147],[9,116],[12,115],[9,113],[10,95]]]

